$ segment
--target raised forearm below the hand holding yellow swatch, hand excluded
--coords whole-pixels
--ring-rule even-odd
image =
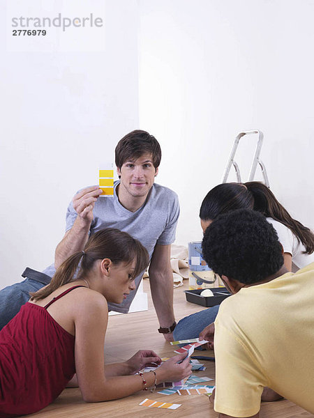
[[[80,217],[75,219],[75,222],[64,235],[63,240],[57,245],[54,254],[54,266],[58,268],[66,258],[70,257],[77,251],[82,251],[89,238],[89,222],[82,222]]]

